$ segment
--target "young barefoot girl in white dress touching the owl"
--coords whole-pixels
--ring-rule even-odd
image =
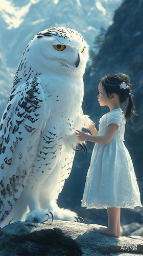
[[[126,121],[135,114],[130,85],[125,74],[104,76],[98,86],[98,101],[101,106],[109,106],[110,112],[100,118],[99,132],[94,125],[89,127],[92,135],[77,131],[79,141],[96,142],[81,206],[87,209],[106,208],[108,227],[93,230],[112,236],[122,236],[121,207],[142,207],[132,160],[123,142]],[[124,113],[120,103],[127,99]]]

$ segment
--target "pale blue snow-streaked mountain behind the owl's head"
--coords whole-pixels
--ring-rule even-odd
[[[90,49],[100,28],[107,29],[122,0],[1,0],[0,117],[23,50],[39,31],[55,26],[79,31]],[[89,62],[90,63],[90,62]]]

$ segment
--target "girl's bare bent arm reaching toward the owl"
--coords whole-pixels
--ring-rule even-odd
[[[84,133],[78,131],[77,138],[79,141],[86,141],[89,140],[91,142],[99,143],[99,144],[108,144],[111,139],[114,137],[116,131],[118,129],[118,125],[115,123],[111,123],[107,126],[105,134],[103,136],[94,136],[90,135],[89,133]]]

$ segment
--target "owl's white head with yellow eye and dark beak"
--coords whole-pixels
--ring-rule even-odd
[[[88,46],[83,36],[69,28],[53,27],[36,34],[22,58],[38,72],[56,72],[83,76],[88,60]]]

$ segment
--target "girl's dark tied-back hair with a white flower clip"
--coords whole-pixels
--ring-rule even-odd
[[[111,95],[112,93],[115,93],[118,95],[120,103],[125,103],[127,101],[125,117],[127,121],[128,120],[132,121],[134,115],[136,114],[135,114],[135,106],[132,99],[133,95],[130,95],[132,94],[132,90],[130,88],[131,83],[130,83],[129,76],[123,73],[108,74],[99,80],[98,85],[100,82],[102,83],[103,90],[106,93],[107,97],[109,97],[109,95]],[[122,82],[125,82],[128,88],[121,89],[120,84]]]

